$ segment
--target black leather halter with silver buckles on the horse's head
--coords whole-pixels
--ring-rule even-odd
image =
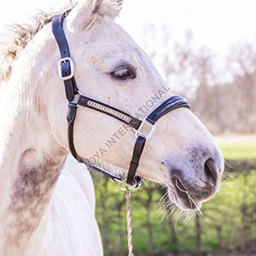
[[[159,107],[154,109],[144,120],[139,120],[117,108],[113,108],[105,103],[97,100],[90,99],[81,94],[76,86],[76,81],[74,77],[74,63],[70,58],[70,53],[68,49],[68,42],[63,31],[63,21],[67,16],[67,12],[62,15],[57,15],[52,21],[52,31],[55,39],[59,45],[61,59],[58,62],[58,70],[60,78],[63,80],[65,85],[66,98],[68,101],[68,145],[71,154],[76,158],[79,163],[86,164],[89,168],[92,168],[98,172],[103,173],[109,178],[120,181],[122,183],[127,183],[130,186],[138,187],[140,184],[140,177],[135,176],[140,156],[142,154],[145,142],[149,140],[155,132],[157,120],[164,116],[165,114],[171,112],[176,108],[189,108],[187,101],[181,96],[175,95],[165,100]],[[78,94],[76,101],[75,95]],[[130,162],[130,167],[125,181],[121,180],[119,177],[89,163],[88,159],[79,156],[76,152],[73,140],[73,129],[74,121],[76,118],[76,109],[78,106],[91,108],[93,110],[100,111],[104,114],[112,116],[119,121],[128,124],[135,130],[136,142],[133,148],[132,161]],[[147,125],[150,127],[150,132],[145,134],[141,132],[141,128]]]

